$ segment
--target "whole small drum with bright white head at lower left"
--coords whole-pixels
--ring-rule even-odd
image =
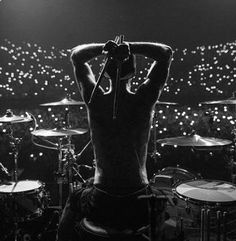
[[[39,217],[47,204],[48,195],[39,181],[23,180],[0,185],[0,213],[7,222]]]

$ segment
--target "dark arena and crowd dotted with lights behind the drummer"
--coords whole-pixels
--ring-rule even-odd
[[[229,98],[236,90],[235,9],[235,0],[2,0],[0,114],[4,115],[7,108],[13,109],[15,114],[30,111],[40,128],[55,127],[54,117],[63,115],[63,108],[49,112],[39,104],[61,100],[66,92],[72,93],[74,99],[81,98],[73,82],[69,50],[77,44],[105,42],[117,34],[124,34],[129,41],[163,42],[174,50],[170,78],[161,100],[180,105],[158,107],[157,138],[197,130],[204,136],[232,139],[234,105],[215,109],[215,106],[198,107],[197,104]],[[95,65],[98,67],[97,61]],[[209,108],[215,116],[212,128],[209,128],[211,116],[206,114]],[[77,114],[72,118],[74,127],[88,128],[85,109],[75,108],[74,112]],[[15,135],[26,134],[26,127],[17,125],[14,128]],[[12,169],[12,156],[4,132],[0,138],[0,161]],[[88,140],[89,134],[75,136],[76,152],[82,150]],[[153,164],[153,148],[152,129],[148,164]],[[229,155],[225,150],[199,154],[169,148],[158,146],[159,167],[181,163],[196,172],[204,172],[205,176],[209,174],[209,178],[230,179]],[[55,151],[33,145],[28,133],[19,155],[19,166],[23,169],[20,178],[54,182],[57,158]],[[92,165],[92,160],[90,147],[80,162]],[[217,169],[215,173],[214,169]],[[151,169],[150,173],[155,171]]]

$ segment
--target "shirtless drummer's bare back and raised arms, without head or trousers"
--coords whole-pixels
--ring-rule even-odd
[[[86,62],[91,56],[95,57],[92,51],[96,53],[95,55],[102,54],[105,44],[76,47],[72,53],[76,78],[88,110],[90,134],[96,159],[94,184],[112,193],[128,193],[148,184],[146,155],[151,113],[167,79],[171,60],[171,49],[166,45],[151,43],[127,45],[132,54],[142,54],[142,51],[146,51],[146,56],[154,60],[156,57],[160,58],[158,59],[160,62],[153,64],[145,83],[137,93],[129,91],[127,79],[121,80],[115,119],[113,118],[115,76],[111,77],[111,91],[104,94],[101,89],[98,89],[92,102],[88,103],[95,85],[95,78]],[[88,50],[90,47],[94,48],[91,52]],[[158,50],[152,52],[155,47]],[[86,48],[89,59],[87,59]]]

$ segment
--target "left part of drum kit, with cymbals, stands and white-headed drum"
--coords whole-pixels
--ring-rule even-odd
[[[0,163],[0,213],[1,222],[14,225],[10,234],[6,234],[3,240],[22,240],[19,227],[22,223],[35,220],[41,217],[49,206],[50,195],[45,189],[45,184],[38,180],[19,180],[18,154],[21,144],[21,138],[14,136],[13,126],[22,123],[34,122],[34,130],[31,131],[32,142],[40,147],[53,149],[58,152],[58,170],[56,172],[57,185],[59,189],[59,211],[63,206],[63,188],[68,185],[67,191],[70,193],[77,185],[81,185],[85,180],[80,174],[78,156],[89,146],[90,141],[83,150],[77,155],[75,147],[72,144],[71,137],[87,133],[87,129],[71,128],[69,118],[69,107],[84,105],[84,102],[76,101],[70,96],[58,102],[41,104],[41,106],[66,107],[65,119],[55,129],[37,129],[36,118],[29,113],[25,116],[18,116],[8,109],[3,117],[0,117],[0,123],[5,128],[5,134],[12,148],[14,159],[14,170],[12,175],[7,168]],[[53,141],[50,138],[54,138]],[[39,144],[40,140],[40,144]],[[55,141],[56,140],[56,141]],[[41,144],[43,142],[43,144]],[[92,168],[92,167],[91,167]],[[67,192],[67,194],[68,194]],[[0,224],[1,226],[1,224]],[[40,235],[39,235],[40,236]],[[2,240],[2,239],[1,239]],[[25,239],[23,239],[25,240]],[[31,239],[30,239],[31,240]],[[37,239],[41,240],[41,239]]]

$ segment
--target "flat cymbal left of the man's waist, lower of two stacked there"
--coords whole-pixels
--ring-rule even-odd
[[[73,136],[73,135],[82,135],[86,133],[86,129],[78,128],[78,129],[39,129],[32,131],[31,134],[34,136],[41,137],[63,137],[63,136]]]

